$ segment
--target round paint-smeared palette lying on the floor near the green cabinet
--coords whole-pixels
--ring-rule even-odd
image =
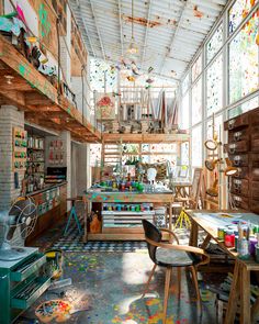
[[[43,323],[63,323],[70,319],[71,305],[63,300],[43,302],[35,310],[35,315]]]

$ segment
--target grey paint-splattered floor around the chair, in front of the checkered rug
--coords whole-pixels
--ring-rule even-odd
[[[53,322],[65,321],[78,324],[161,324],[165,272],[156,271],[150,284],[150,293],[140,298],[153,262],[145,250],[136,253],[66,253],[64,278],[71,278],[72,286],[46,292],[25,313],[36,319],[35,309],[43,301],[56,300],[65,292],[75,310],[70,316],[58,317]],[[216,323],[214,295],[201,290],[203,316],[196,311],[195,293],[189,275],[182,272],[182,292],[177,299],[176,273],[172,275],[167,324]],[[22,322],[18,322],[22,323]]]

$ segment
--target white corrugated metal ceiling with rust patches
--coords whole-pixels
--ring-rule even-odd
[[[121,62],[132,37],[131,0],[69,0],[93,57]],[[134,0],[136,64],[180,79],[226,0]],[[148,23],[148,26],[147,26]],[[151,26],[153,25],[153,26]]]

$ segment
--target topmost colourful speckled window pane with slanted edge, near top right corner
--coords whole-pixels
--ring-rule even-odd
[[[232,34],[240,22],[248,15],[249,11],[258,0],[237,0],[229,9],[228,13],[228,32]]]

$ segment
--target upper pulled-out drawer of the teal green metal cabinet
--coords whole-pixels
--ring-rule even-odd
[[[26,260],[25,264],[19,265],[18,268],[13,269],[10,273],[12,281],[23,281],[40,269],[46,262],[46,256],[37,254],[35,257]]]

